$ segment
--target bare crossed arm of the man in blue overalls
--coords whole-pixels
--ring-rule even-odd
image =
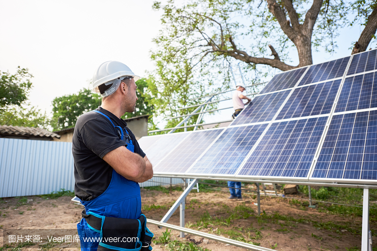
[[[126,147],[118,147],[102,158],[124,178],[135,182],[144,182],[153,177],[152,164],[147,156],[141,157]]]

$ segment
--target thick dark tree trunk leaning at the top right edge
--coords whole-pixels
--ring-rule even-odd
[[[372,36],[377,30],[377,5],[373,9],[372,13],[368,17],[368,21],[363,32],[360,35],[359,40],[355,43],[355,47],[351,54],[359,53],[365,51],[372,40]]]

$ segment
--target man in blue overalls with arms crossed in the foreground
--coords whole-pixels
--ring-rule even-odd
[[[139,78],[121,62],[101,64],[93,91],[102,94],[102,104],[75,125],[72,154],[75,195],[84,205],[77,224],[83,251],[152,249],[138,184],[153,177],[152,164],[120,118],[135,110]]]

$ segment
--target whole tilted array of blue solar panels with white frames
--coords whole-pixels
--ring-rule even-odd
[[[376,56],[277,74],[226,129],[191,132],[173,147],[166,139],[173,149],[156,151],[155,173],[376,183]]]

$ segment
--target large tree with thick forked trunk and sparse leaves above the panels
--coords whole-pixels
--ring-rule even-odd
[[[219,67],[219,60],[241,61],[249,70],[257,64],[282,71],[311,65],[312,47],[333,52],[341,27],[365,26],[359,51],[366,49],[377,28],[376,4],[365,0],[196,0],[180,8],[170,0],[164,6],[155,2],[153,8],[164,11],[165,29],[155,39],[158,50],[152,58],[167,65],[190,59],[190,66],[202,74]],[[347,15],[352,12],[356,18],[351,22]],[[267,57],[267,46],[274,58]],[[298,65],[287,63],[292,47]]]

